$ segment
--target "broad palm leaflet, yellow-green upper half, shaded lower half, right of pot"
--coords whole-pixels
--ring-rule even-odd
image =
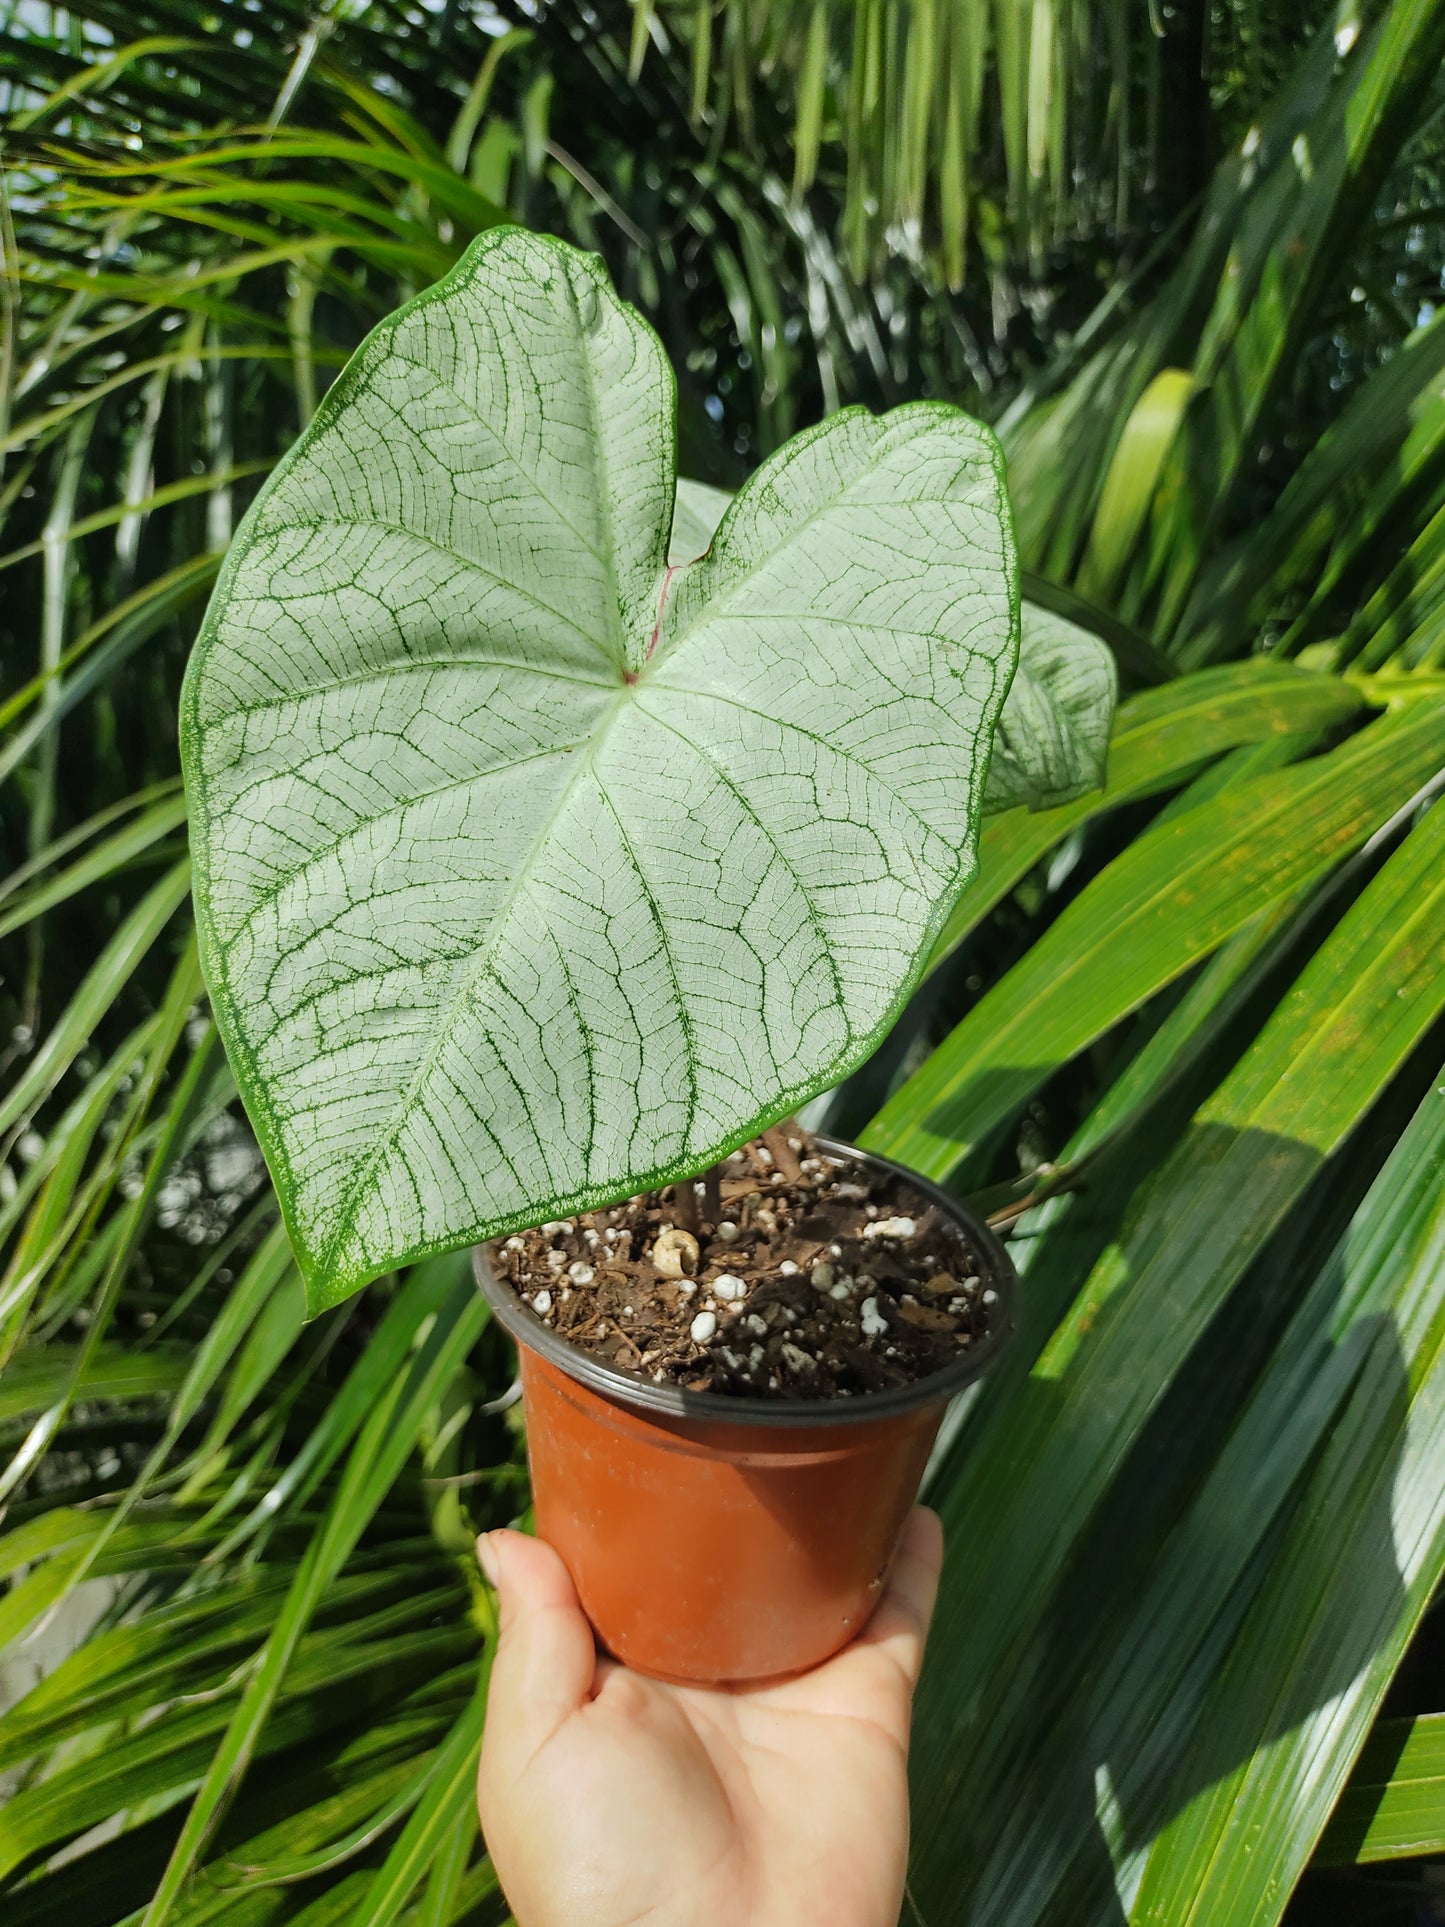
[[[1031,1380],[938,1493],[985,1594],[946,1586],[925,1757],[948,1707],[954,1765],[919,1782],[921,1836],[988,1804],[998,1703],[1089,1518],[1206,1322],[1445,1006],[1445,811],[1426,815],[1351,906],[1250,1052],[1152,1170]],[[934,1711],[936,1709],[936,1711]],[[981,1738],[961,1755],[958,1727]],[[921,1896],[925,1912],[931,1896]],[[940,1914],[942,1917],[942,1914]]]

